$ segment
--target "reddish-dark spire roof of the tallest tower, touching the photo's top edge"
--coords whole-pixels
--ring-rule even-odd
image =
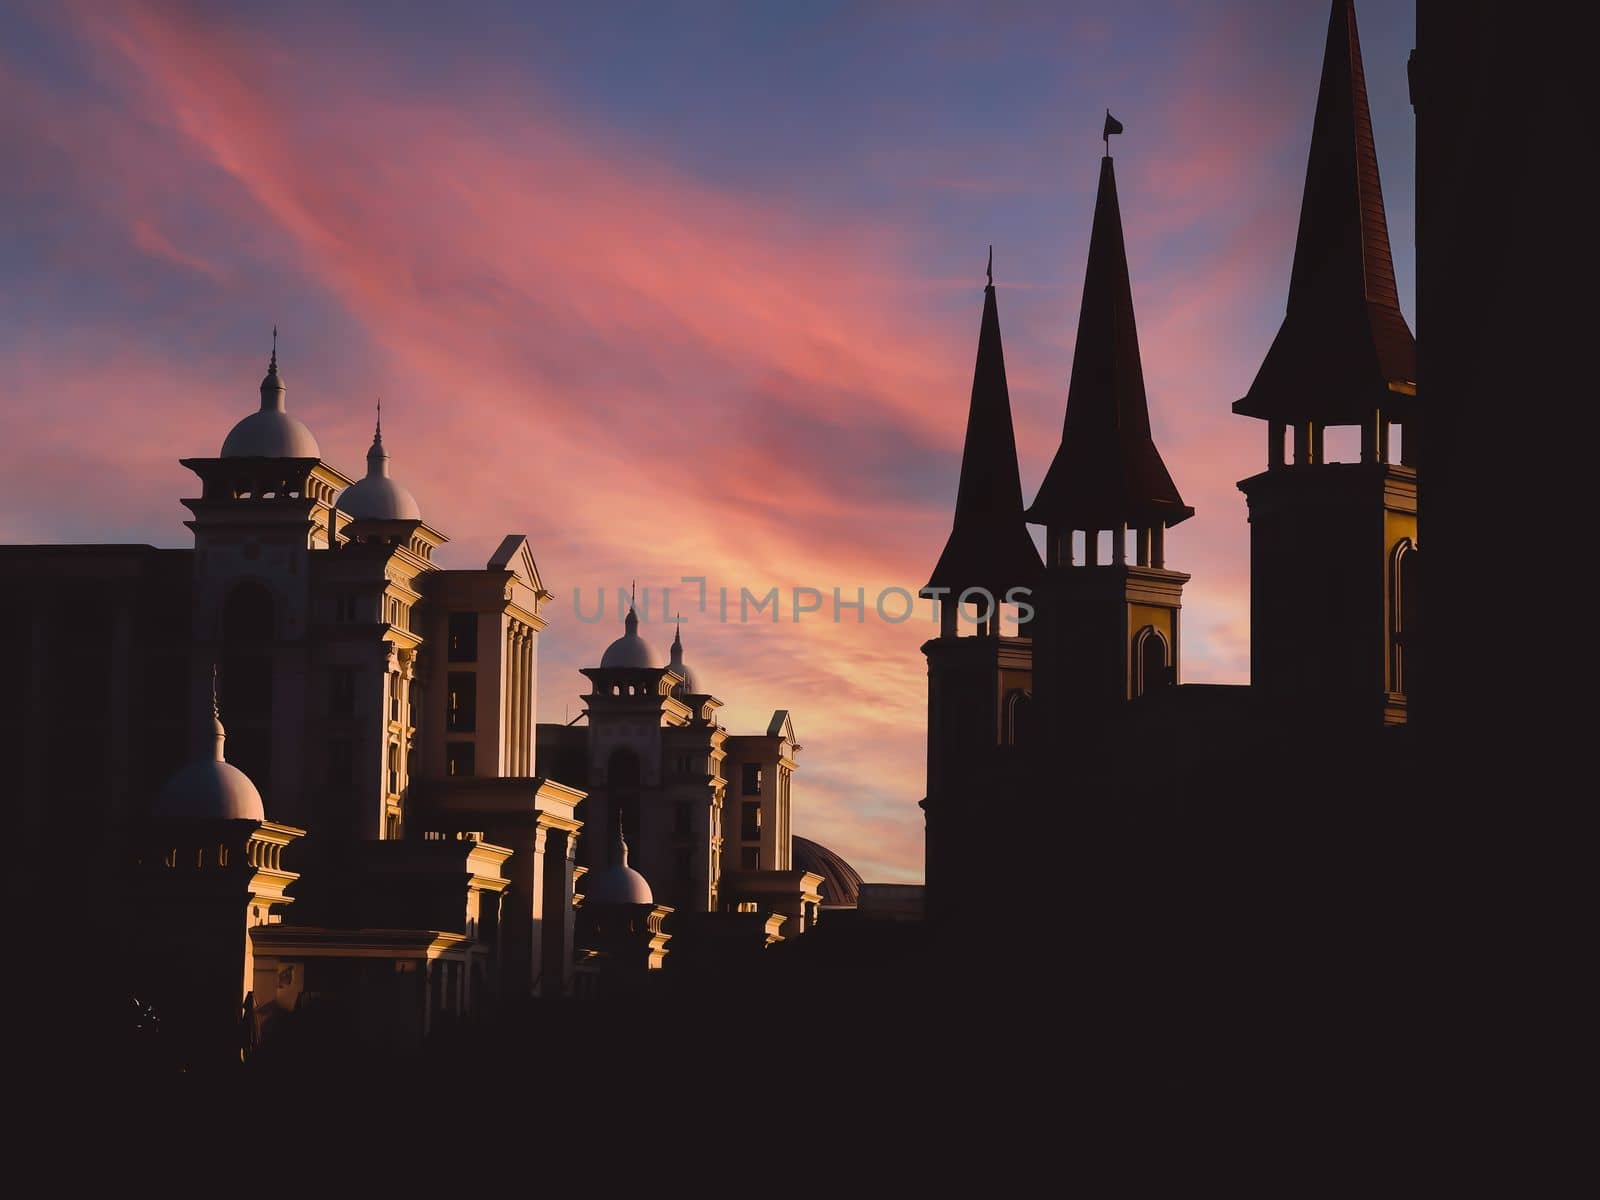
[[[1357,424],[1400,406],[1414,382],[1416,339],[1395,290],[1355,6],[1333,0],[1288,309],[1234,411]]]

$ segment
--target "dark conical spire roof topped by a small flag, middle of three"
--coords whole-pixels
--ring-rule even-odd
[[[1101,158],[1061,448],[1027,520],[1061,530],[1176,525],[1194,515],[1150,438],[1117,174]]]

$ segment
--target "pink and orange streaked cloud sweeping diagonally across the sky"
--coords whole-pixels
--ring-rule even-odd
[[[560,115],[522,78],[458,80],[443,106],[347,54],[338,34],[291,51],[163,8],[88,3],[72,6],[70,27],[139,115],[139,146],[109,149],[106,211],[128,246],[195,275],[208,304],[259,312],[262,328],[283,322],[286,346],[306,320],[294,301],[331,298],[371,371],[339,392],[328,381],[341,366],[285,354],[290,406],[323,453],[354,470],[382,395],[394,472],[454,538],[446,562],[482,562],[512,528],[533,538],[560,597],[544,718],[576,710],[578,667],[614,635],[573,616],[578,589],[706,574],[757,594],[862,587],[870,605],[880,589],[925,582],[949,528],[979,293],[963,282],[970,312],[931,315],[904,232],[709,184]],[[1248,670],[1234,480],[1256,469],[1261,434],[1227,405],[1266,350],[1235,328],[1237,310],[1280,294],[1286,248],[1272,237],[1291,205],[1238,205],[1242,173],[1285,125],[1216,91],[1197,88],[1160,133],[1182,152],[1123,176],[1152,414],[1200,509],[1170,542],[1173,563],[1195,573],[1190,680]],[[69,106],[53,138],[82,144],[101,120]],[[946,173],[955,165],[918,160],[960,184],[968,176]],[[184,190],[211,227],[173,210]],[[1006,346],[1029,494],[1061,430],[1080,218],[1070,298],[1002,275],[1003,320],[1045,304],[1062,314],[1053,341]],[[1203,256],[1158,253],[1162,238],[1216,221],[1227,237]],[[298,272],[304,293],[264,290],[246,267],[266,258]],[[6,509],[38,517],[3,533],[88,531],[118,507],[179,542],[176,499],[190,485],[174,459],[214,453],[253,405],[259,358],[179,360],[115,331],[96,331],[94,355],[70,341],[8,363],[30,424],[0,469],[30,496]],[[941,461],[949,478],[928,480]],[[870,608],[861,624],[686,616],[690,661],[736,731],[794,712],[806,747],[795,830],[869,878],[918,878],[925,610],[906,624]],[[664,650],[662,630],[646,634]]]

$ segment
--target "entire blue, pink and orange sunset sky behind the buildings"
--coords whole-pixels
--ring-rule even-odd
[[[1413,5],[1358,5],[1414,328]],[[1032,499],[1061,437],[1106,107],[1157,443],[1197,517],[1184,678],[1248,678],[1237,418],[1283,314],[1326,0],[0,8],[0,541],[186,546],[181,456],[288,408],[482,566],[555,592],[542,720],[659,589],[731,731],[789,709],[794,830],[922,878],[928,606],[984,256]],[[683,576],[706,576],[709,611]],[[592,616],[608,589],[606,618]],[[731,592],[720,622],[715,592]],[[739,589],[821,613],[738,621]],[[832,590],[867,595],[835,622]],[[898,616],[894,600],[890,614]],[[974,797],[974,803],[1002,797]],[[982,819],[981,816],[978,818]]]

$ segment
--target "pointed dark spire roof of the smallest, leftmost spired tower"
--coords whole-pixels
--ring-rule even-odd
[[[949,587],[960,595],[968,587],[982,587],[995,600],[1003,600],[1010,589],[1029,587],[1038,574],[1038,550],[1022,522],[1022,482],[1016,469],[1016,432],[1005,381],[1005,352],[1000,349],[990,246],[955,522],[923,592]]]

